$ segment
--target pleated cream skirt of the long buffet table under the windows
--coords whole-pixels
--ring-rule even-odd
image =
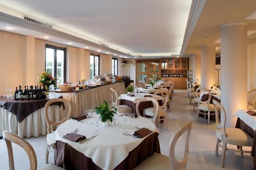
[[[116,90],[117,95],[125,93],[124,83],[115,83],[97,88],[83,90],[76,93],[58,93],[68,100],[72,106],[71,116],[84,114],[84,110],[94,109],[103,101],[111,102],[110,88]]]

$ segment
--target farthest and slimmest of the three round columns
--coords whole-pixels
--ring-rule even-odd
[[[193,83],[201,84],[201,56],[193,54]]]

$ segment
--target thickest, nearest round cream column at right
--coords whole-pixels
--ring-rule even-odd
[[[247,108],[247,25],[221,26],[221,103],[226,127],[234,127],[238,109]],[[223,120],[222,120],[223,121]]]

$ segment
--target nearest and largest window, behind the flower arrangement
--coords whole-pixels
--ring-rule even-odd
[[[66,81],[66,48],[46,44],[46,71],[57,79],[57,84]]]

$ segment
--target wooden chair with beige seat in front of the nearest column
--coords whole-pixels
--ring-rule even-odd
[[[243,151],[242,147],[251,147],[253,143],[253,138],[245,131],[239,128],[226,128],[226,111],[224,107],[217,102],[216,100],[212,100],[214,103],[215,112],[216,112],[216,126],[217,130],[215,136],[217,137],[216,143],[216,156],[218,156],[219,146],[222,147],[222,167],[225,166],[225,156],[226,150],[233,150],[227,149],[227,144],[236,145],[239,147],[238,150],[233,150],[236,152],[240,152],[241,156],[243,157],[243,153],[251,153],[250,151]],[[223,116],[223,120],[220,122],[219,114]],[[222,141],[222,145],[220,142]]]

